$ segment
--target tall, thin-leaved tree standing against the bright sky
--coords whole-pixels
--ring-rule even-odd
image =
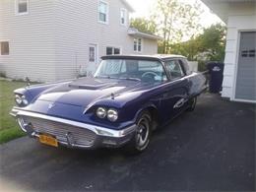
[[[154,15],[163,41],[160,42],[160,53],[171,52],[170,44],[180,42],[184,37],[191,37],[201,28],[201,4],[181,0],[158,0],[157,13]]]

